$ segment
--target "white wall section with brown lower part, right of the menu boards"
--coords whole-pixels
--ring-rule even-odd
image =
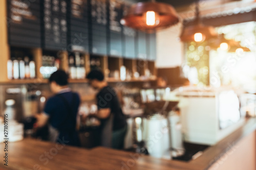
[[[158,77],[167,80],[170,86],[180,84],[182,77],[181,66],[184,52],[183,43],[179,40],[182,23],[168,29],[157,31],[157,60]],[[166,74],[167,73],[167,74]]]

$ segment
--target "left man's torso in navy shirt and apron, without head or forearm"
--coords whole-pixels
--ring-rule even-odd
[[[50,140],[65,140],[69,141],[69,145],[79,145],[75,128],[80,98],[77,93],[67,90],[60,91],[47,101],[44,112],[50,116]]]

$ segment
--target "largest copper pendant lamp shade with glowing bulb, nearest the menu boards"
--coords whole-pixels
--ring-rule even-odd
[[[121,24],[136,30],[153,32],[178,23],[179,18],[173,6],[165,3],[145,2],[133,5]]]

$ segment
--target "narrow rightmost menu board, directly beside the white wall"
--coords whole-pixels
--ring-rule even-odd
[[[147,59],[156,60],[157,59],[157,43],[156,43],[156,33],[147,34]]]

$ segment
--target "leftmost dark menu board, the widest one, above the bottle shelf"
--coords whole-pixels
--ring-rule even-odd
[[[1,0],[4,1],[4,0]],[[8,0],[8,38],[13,46],[40,47],[40,2]]]

